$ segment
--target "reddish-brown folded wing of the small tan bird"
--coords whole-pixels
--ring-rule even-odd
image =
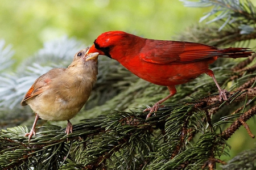
[[[35,80],[34,84],[32,84],[20,104],[27,105],[26,101],[28,99],[42,94],[42,92],[49,87],[51,80],[59,75],[61,71],[64,71],[64,69],[52,69],[46,74],[39,76],[39,78]]]

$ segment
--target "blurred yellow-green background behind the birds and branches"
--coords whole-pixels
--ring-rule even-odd
[[[111,30],[150,39],[175,40],[175,35],[198,24],[200,17],[211,9],[184,7],[177,0],[2,0],[0,8],[0,39],[13,45],[16,64],[35,54],[43,42],[65,35],[88,46],[102,32]],[[254,120],[250,120],[250,124],[255,124]],[[255,129],[252,130],[256,134]],[[249,138],[242,127],[230,139],[230,145],[233,157],[246,148],[255,147],[255,139]]]

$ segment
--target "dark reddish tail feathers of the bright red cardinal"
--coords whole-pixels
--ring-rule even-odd
[[[228,58],[241,58],[249,57],[254,52],[249,48],[218,48],[220,55],[218,57],[228,57]]]

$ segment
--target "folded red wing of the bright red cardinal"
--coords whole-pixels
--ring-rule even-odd
[[[213,46],[192,42],[150,40],[147,43],[152,48],[147,52],[143,50],[142,58],[158,64],[193,62],[220,55]]]

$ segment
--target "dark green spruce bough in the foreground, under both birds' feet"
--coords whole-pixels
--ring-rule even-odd
[[[234,96],[233,102],[237,102],[239,95],[241,94]],[[218,96],[211,97],[218,99]],[[0,166],[3,169],[20,166],[24,169],[60,168],[60,165],[65,169],[66,164],[67,168],[74,165],[84,169],[137,169],[147,166],[152,169],[189,169],[191,165],[200,168],[216,156],[227,154],[228,145],[225,137],[212,133],[218,126],[214,125],[214,129],[209,129],[204,121],[204,109],[216,105],[209,103],[201,109],[198,106],[199,103],[195,100],[166,105],[147,121],[144,119],[147,113],[143,113],[142,109],[133,112],[116,111],[109,116],[82,120],[80,124],[74,125],[74,132],[68,136],[64,133],[64,128],[47,125],[41,128],[48,130],[38,133],[36,138],[31,139],[31,143],[27,143],[27,137],[23,137],[28,129],[17,127],[2,130],[0,141],[3,145],[0,155],[3,156],[0,156]],[[195,144],[189,142],[193,147],[188,149],[186,146],[191,137],[188,133],[190,129],[196,131],[197,135],[203,135],[200,135]],[[72,142],[67,143],[67,138]],[[11,154],[13,151],[15,154]],[[202,157],[199,154],[202,151],[208,154]],[[196,155],[200,156],[197,158]],[[51,163],[49,167],[43,167],[46,164],[36,163],[38,160]]]

